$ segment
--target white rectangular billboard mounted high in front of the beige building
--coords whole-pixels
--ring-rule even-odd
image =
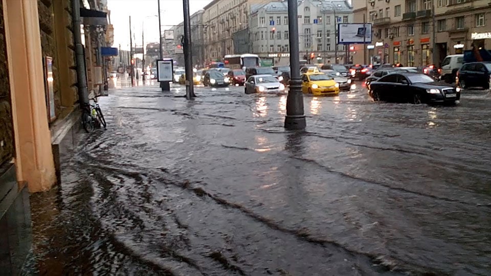
[[[365,41],[363,41],[365,39]],[[370,23],[338,24],[338,44],[372,43]]]

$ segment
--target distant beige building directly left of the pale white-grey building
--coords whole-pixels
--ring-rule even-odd
[[[213,0],[203,13],[205,61],[221,61],[234,54],[234,33],[248,28],[251,5],[267,0]]]

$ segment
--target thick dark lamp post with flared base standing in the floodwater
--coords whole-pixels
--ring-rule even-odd
[[[298,3],[288,0],[288,33],[290,43],[290,74],[289,91],[286,98],[286,129],[304,129],[306,126],[303,112],[302,80],[300,79],[300,52],[298,40]]]

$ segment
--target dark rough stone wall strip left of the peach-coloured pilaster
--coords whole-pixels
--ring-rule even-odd
[[[0,0],[0,14],[0,173],[2,173],[2,165],[15,155],[3,0]]]

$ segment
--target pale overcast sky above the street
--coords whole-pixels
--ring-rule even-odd
[[[142,44],[142,23],[144,24],[145,43],[159,42],[158,0],[108,0],[111,11],[111,24],[114,26],[113,47],[129,50],[129,16],[135,33],[137,45]],[[203,9],[212,0],[189,0],[190,15]],[[225,0],[227,1],[227,0]],[[184,20],[182,0],[160,0],[162,33],[171,26]],[[167,26],[164,26],[167,25]],[[135,44],[135,42],[133,42]]]

